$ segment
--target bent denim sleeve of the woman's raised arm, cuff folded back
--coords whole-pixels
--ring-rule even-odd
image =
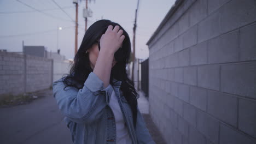
[[[91,123],[102,116],[104,107],[109,104],[113,88],[103,87],[103,81],[93,72],[88,76],[81,89],[66,87],[60,80],[53,83],[53,96],[61,113],[77,123]]]

